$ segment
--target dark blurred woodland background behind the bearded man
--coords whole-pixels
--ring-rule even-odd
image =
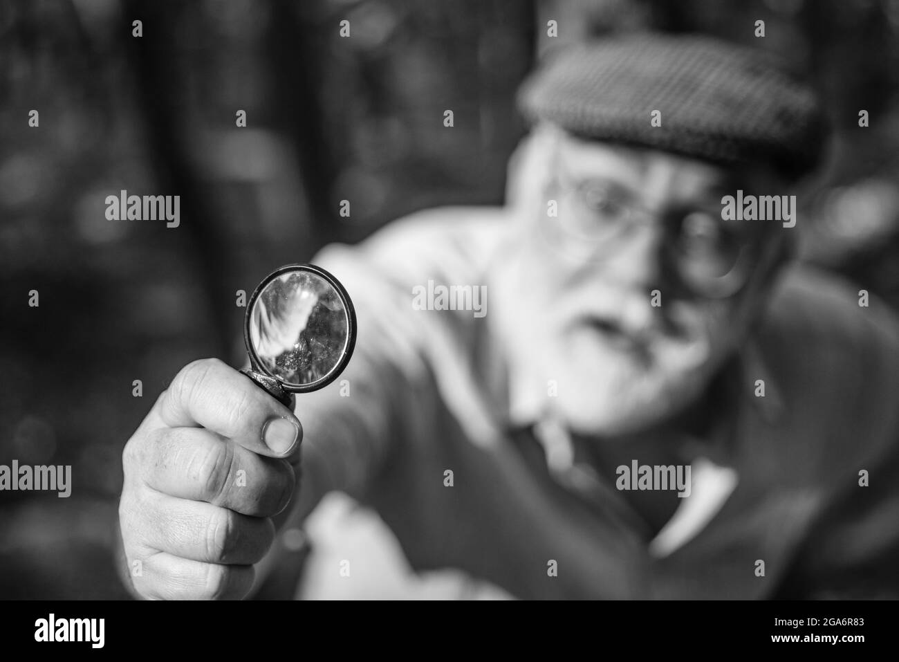
[[[501,203],[522,77],[647,28],[812,79],[836,139],[802,258],[899,308],[899,0],[0,0],[0,464],[73,465],[69,498],[0,492],[0,598],[127,596],[121,449],[184,363],[243,362],[236,291],[410,211]],[[180,195],[181,226],[107,220],[121,189]]]

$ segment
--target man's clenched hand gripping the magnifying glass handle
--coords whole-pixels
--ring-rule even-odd
[[[185,366],[122,453],[119,519],[138,595],[244,597],[295,488],[302,427],[216,359]]]

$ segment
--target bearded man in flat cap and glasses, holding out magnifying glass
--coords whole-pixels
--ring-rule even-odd
[[[316,257],[356,304],[345,381],[294,416],[208,360],[160,396],[124,452],[138,595],[247,595],[333,490],[364,531],[316,546],[340,527],[313,513],[300,596],[899,590],[895,320],[789,263],[812,95],[753,51],[632,36],[553,58],[521,108],[506,207]],[[487,296],[414,305],[433,283]]]

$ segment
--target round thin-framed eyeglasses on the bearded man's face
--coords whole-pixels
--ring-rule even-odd
[[[582,259],[602,259],[643,225],[662,221],[663,253],[681,283],[703,297],[723,299],[743,288],[752,273],[752,239],[727,228],[720,210],[648,210],[608,179],[574,180],[556,167],[561,195],[551,225],[556,247]],[[565,204],[563,204],[565,202]],[[561,242],[562,246],[559,246]]]

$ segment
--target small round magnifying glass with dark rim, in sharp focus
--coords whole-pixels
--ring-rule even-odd
[[[244,342],[257,386],[293,409],[294,393],[337,379],[356,344],[356,312],[343,285],[314,264],[287,264],[259,283],[246,307]]]

